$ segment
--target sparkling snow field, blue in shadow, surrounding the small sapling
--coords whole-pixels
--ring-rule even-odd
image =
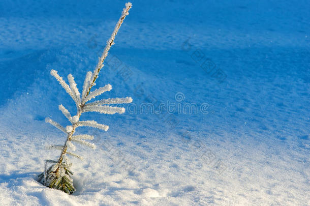
[[[76,112],[49,72],[81,90],[125,2],[1,1],[0,204],[310,205],[309,1],[132,3],[107,58],[121,65],[106,63],[96,88],[138,108],[202,110],[83,114],[110,129],[79,130],[97,149],[77,145],[77,191],[42,186],[44,160],[59,155],[44,146],[66,138],[44,119],[67,126],[58,105]]]

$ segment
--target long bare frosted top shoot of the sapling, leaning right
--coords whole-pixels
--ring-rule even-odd
[[[98,77],[98,74],[99,74],[101,68],[104,66],[104,65],[103,65],[103,62],[104,62],[105,58],[107,57],[108,52],[109,52],[111,46],[114,44],[114,39],[115,39],[115,36],[116,36],[116,34],[117,34],[117,32],[118,32],[118,30],[119,30],[119,28],[120,28],[120,25],[121,25],[122,22],[124,21],[125,17],[126,17],[127,15],[129,15],[129,10],[131,9],[132,4],[131,4],[130,2],[128,2],[128,3],[125,4],[125,7],[126,7],[126,8],[124,8],[124,9],[122,10],[121,16],[119,17],[119,19],[118,19],[118,21],[117,21],[117,23],[116,23],[116,25],[115,25],[115,27],[114,27],[114,31],[113,31],[113,33],[112,33],[110,39],[107,41],[107,45],[106,45],[106,47],[104,48],[101,57],[99,58],[98,64],[97,64],[97,66],[96,66],[96,69],[94,70],[94,72],[93,72],[93,74],[92,74],[91,83],[90,83],[89,86],[88,86],[87,95],[89,94],[91,87],[94,86],[94,83],[95,83],[95,81],[96,81],[96,79],[97,79],[97,77]]]

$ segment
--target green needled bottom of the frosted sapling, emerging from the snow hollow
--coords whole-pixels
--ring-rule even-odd
[[[38,175],[38,182],[46,187],[61,190],[71,195],[76,191],[73,186],[72,174],[69,165],[61,163],[58,166],[56,163],[47,169],[46,176],[44,176],[44,172]]]

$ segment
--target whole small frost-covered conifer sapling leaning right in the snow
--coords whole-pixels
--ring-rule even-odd
[[[94,139],[94,136],[87,135],[87,134],[74,135],[75,130],[78,127],[83,127],[83,126],[84,127],[95,127],[95,128],[98,128],[104,131],[107,131],[109,129],[109,126],[99,124],[96,121],[92,121],[92,120],[91,121],[80,121],[79,119],[80,119],[81,114],[84,112],[90,112],[90,111],[100,112],[103,114],[124,113],[125,108],[115,107],[115,106],[110,106],[110,105],[132,102],[131,97],[126,97],[126,98],[102,99],[102,100],[97,100],[91,103],[87,103],[89,100],[103,94],[104,92],[110,91],[112,89],[112,86],[110,84],[107,84],[103,87],[100,87],[99,89],[95,91],[92,91],[92,92],[90,91],[92,86],[95,85],[95,81],[98,77],[98,74],[100,70],[102,69],[102,67],[104,66],[103,62],[108,55],[108,51],[111,48],[111,46],[114,44],[114,38],[123,20],[129,14],[128,11],[131,9],[132,4],[127,3],[125,6],[126,8],[123,9],[121,16],[114,28],[114,31],[110,39],[107,41],[107,45],[104,48],[102,56],[99,58],[99,62],[96,66],[96,69],[94,70],[94,72],[87,72],[86,74],[84,84],[83,84],[82,94],[80,94],[77,88],[77,84],[75,83],[72,74],[68,75],[68,81],[69,81],[69,85],[68,85],[66,81],[57,74],[57,71],[51,70],[50,72],[50,74],[57,79],[59,84],[64,87],[65,91],[74,100],[76,107],[77,107],[77,113],[76,115],[71,116],[70,112],[63,105],[60,104],[58,107],[59,110],[67,117],[71,125],[67,127],[63,127],[60,124],[52,121],[48,117],[45,119],[47,123],[50,123],[51,125],[63,131],[67,135],[67,139],[64,145],[51,145],[48,147],[49,149],[55,149],[55,150],[61,151],[60,156],[57,160],[46,160],[45,161],[44,172],[39,174],[38,181],[49,188],[58,189],[68,194],[72,194],[75,191],[75,188],[73,186],[73,180],[72,180],[73,173],[72,171],[70,171],[70,167],[72,163],[69,163],[67,155],[80,158],[80,159],[82,159],[82,157],[68,150],[74,149],[73,142],[83,144],[92,149],[95,149],[96,147],[95,144],[85,141],[85,140]],[[52,165],[48,167],[48,164],[52,164]]]

